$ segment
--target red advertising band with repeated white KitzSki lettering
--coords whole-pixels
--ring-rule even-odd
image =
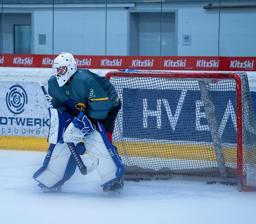
[[[56,56],[51,54],[2,54],[0,66],[50,68]],[[256,71],[256,57],[74,55],[74,58],[78,68],[88,69]]]

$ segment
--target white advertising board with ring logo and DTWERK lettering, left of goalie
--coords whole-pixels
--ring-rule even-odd
[[[0,81],[0,135],[46,137],[48,102],[38,82]]]

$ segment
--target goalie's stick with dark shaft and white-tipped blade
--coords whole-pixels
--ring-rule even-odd
[[[46,89],[44,88],[43,83],[41,81],[39,81],[38,83],[40,84],[41,89],[43,90],[46,100],[48,101],[50,107],[53,108],[51,99],[50,99]],[[90,166],[85,166],[81,156],[79,155],[78,151],[76,150],[75,144],[73,142],[67,142],[66,144],[68,145],[68,148],[69,148],[72,156],[76,160],[76,164],[77,164],[81,174],[83,174],[83,175],[89,174],[98,166],[98,163],[99,163],[98,158],[92,164],[90,164]]]

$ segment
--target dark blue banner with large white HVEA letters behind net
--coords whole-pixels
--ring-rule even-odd
[[[222,141],[236,143],[236,92],[209,95]],[[122,100],[124,138],[212,142],[199,90],[125,88]]]

